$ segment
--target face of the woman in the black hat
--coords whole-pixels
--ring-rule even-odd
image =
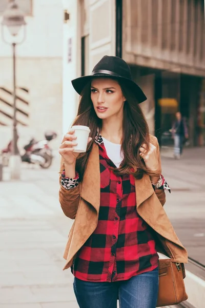
[[[108,119],[113,115],[122,117],[126,99],[116,80],[108,78],[92,80],[91,100],[98,118]]]

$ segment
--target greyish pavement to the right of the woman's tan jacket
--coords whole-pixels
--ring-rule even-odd
[[[161,160],[171,187],[165,210],[189,256],[205,264],[205,147],[186,148],[180,160],[162,151]]]

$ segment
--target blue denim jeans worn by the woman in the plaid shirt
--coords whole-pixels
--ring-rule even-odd
[[[80,308],[156,308],[158,268],[125,281],[90,282],[74,278],[73,288]]]

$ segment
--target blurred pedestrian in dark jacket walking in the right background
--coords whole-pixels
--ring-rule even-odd
[[[180,159],[185,140],[189,138],[186,120],[181,117],[180,112],[176,112],[176,120],[171,131],[174,138],[174,158]]]

